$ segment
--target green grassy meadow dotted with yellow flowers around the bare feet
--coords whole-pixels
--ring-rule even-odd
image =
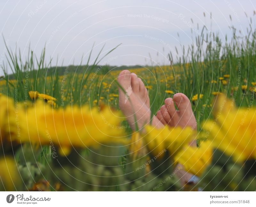
[[[129,68],[146,85],[152,114],[165,98],[186,94],[196,132],[132,132],[118,106],[121,70],[99,64],[119,45],[61,69],[47,63],[44,49],[39,57],[29,49],[24,61],[6,46],[0,189],[255,190],[256,30],[231,30],[233,38],[221,40],[204,26],[193,34],[196,44],[168,54],[170,65]],[[200,147],[188,146],[191,137]],[[173,174],[178,161],[201,181],[181,186]]]

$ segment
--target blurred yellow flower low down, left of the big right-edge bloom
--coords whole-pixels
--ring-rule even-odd
[[[185,169],[194,175],[200,176],[207,166],[212,163],[212,146],[210,141],[202,142],[200,147],[186,146],[175,157]]]

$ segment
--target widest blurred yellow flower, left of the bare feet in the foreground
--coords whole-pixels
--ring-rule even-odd
[[[119,112],[108,107],[88,106],[54,109],[43,102],[27,109],[24,124],[27,133],[18,140],[22,143],[41,143],[60,146],[63,154],[74,147],[96,147],[107,143],[125,143],[124,130],[118,129],[122,119]],[[115,130],[113,130],[115,128]],[[116,129],[117,128],[117,129]],[[28,136],[29,135],[29,136]]]

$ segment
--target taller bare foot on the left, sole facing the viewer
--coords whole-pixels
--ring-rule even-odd
[[[129,70],[123,70],[118,78],[119,87],[119,107],[126,116],[128,123],[133,130],[136,129],[136,123],[139,129],[150,123],[151,111],[149,108],[148,91],[135,73]],[[136,122],[135,122],[136,117]],[[163,127],[164,125],[153,115],[152,125]]]

